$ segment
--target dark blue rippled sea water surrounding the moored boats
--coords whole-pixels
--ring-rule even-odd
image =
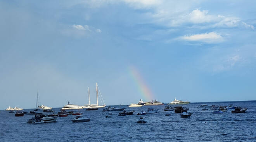
[[[256,142],[256,101],[208,102],[208,105],[229,105],[247,107],[246,113],[213,114],[213,110],[202,111],[200,103],[183,105],[189,107],[191,118],[180,118],[174,111],[164,111],[165,105],[129,108],[133,115],[118,116],[113,111],[111,118],[99,110],[83,112],[90,122],[73,123],[75,115],[58,117],[57,122],[29,124],[33,115],[15,117],[14,113],[0,110],[0,142]],[[141,110],[158,108],[159,112],[144,115],[147,123],[136,121]],[[24,111],[32,111],[25,109]],[[53,108],[55,113],[59,108]],[[165,114],[171,114],[165,116]]]

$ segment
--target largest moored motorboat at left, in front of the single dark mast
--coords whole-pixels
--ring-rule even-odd
[[[45,115],[35,115],[35,117],[32,117],[28,120],[28,123],[49,123],[49,122],[55,122],[57,120],[57,117],[46,117]]]

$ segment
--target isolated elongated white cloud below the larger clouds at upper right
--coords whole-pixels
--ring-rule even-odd
[[[185,41],[199,41],[199,42],[206,42],[206,43],[219,43],[224,41],[224,38],[217,34],[216,32],[209,32],[204,34],[195,34],[195,35],[185,35],[178,39],[182,39]]]

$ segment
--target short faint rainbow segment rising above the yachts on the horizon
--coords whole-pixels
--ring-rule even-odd
[[[145,84],[142,76],[138,73],[138,70],[134,66],[129,66],[129,71],[138,86],[140,94],[143,96],[144,101],[151,101],[154,99],[152,92],[149,87]],[[145,100],[146,99],[146,100]]]

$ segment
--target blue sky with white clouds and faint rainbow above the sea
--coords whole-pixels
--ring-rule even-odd
[[[1,0],[0,109],[256,100],[255,5]]]

